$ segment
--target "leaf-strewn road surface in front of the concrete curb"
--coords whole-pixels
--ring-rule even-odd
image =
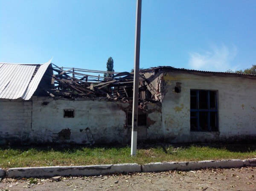
[[[32,183],[34,181],[34,183]],[[30,182],[30,183],[29,183]],[[0,191],[256,191],[256,167],[112,174],[95,177],[3,179]]]

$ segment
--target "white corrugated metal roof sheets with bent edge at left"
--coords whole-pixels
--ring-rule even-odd
[[[29,100],[51,61],[39,65],[0,63],[0,98]],[[33,76],[37,66],[38,71]]]

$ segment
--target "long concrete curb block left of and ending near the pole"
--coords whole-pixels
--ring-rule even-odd
[[[54,176],[92,176],[109,173],[140,172],[138,164],[91,165],[91,166],[49,166],[32,168],[10,168],[7,177],[54,177]]]

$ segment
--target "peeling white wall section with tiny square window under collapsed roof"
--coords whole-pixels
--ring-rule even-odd
[[[36,143],[127,143],[130,132],[123,108],[128,105],[33,97],[32,137]],[[64,118],[64,109],[73,109],[74,118]]]

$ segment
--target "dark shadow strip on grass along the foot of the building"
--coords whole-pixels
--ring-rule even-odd
[[[137,149],[152,149],[152,148],[162,148],[164,153],[168,153],[169,148],[190,148],[190,147],[209,147],[209,148],[218,148],[218,149],[224,149],[230,152],[241,152],[246,153],[250,151],[256,151],[256,144],[253,143],[233,143],[233,144],[224,144],[224,143],[198,143],[198,144],[189,144],[189,143],[183,143],[183,144],[168,144],[168,143],[156,143],[156,144],[150,144],[150,143],[140,143],[137,145]],[[59,151],[59,152],[69,152],[69,153],[75,153],[77,151],[84,151],[84,149],[95,149],[95,150],[106,150],[106,149],[123,149],[127,148],[129,149],[130,145],[29,145],[29,146],[0,146],[0,150],[8,150],[12,149],[15,151],[25,152],[29,151],[31,149],[34,149],[35,151]]]

